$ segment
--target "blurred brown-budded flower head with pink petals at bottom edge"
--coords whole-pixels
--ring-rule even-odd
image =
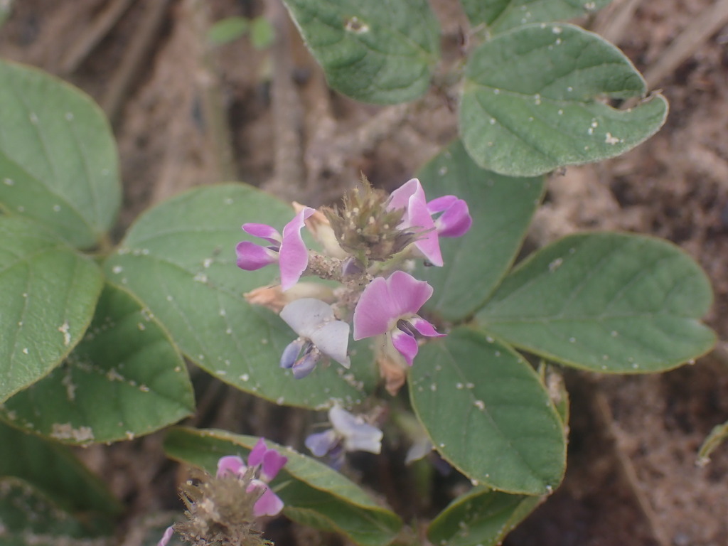
[[[288,458],[266,446],[263,438],[250,451],[248,464],[239,456],[223,456],[215,476],[194,471],[181,486],[186,520],[167,528],[157,546],[167,546],[173,534],[196,545],[269,546],[255,529],[256,519],[277,515],[282,500],[268,483]]]

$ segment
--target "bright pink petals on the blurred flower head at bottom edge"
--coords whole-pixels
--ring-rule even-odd
[[[263,488],[265,491],[253,505],[256,517],[261,515],[277,515],[283,509],[283,501],[268,486],[270,480],[275,478],[278,471],[288,461],[288,457],[281,455],[274,449],[266,447],[265,440],[261,438],[248,455],[248,466],[239,456],[228,455],[218,461],[218,478],[227,474],[236,476],[245,475],[248,467],[259,467],[260,478],[253,479],[248,486],[248,493],[254,489]]]

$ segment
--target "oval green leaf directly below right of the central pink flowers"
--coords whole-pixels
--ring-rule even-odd
[[[537,373],[507,345],[456,328],[422,347],[409,385],[435,449],[471,480],[529,495],[561,482],[563,424]]]

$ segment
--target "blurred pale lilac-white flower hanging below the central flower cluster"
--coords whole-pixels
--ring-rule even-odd
[[[339,405],[334,405],[328,411],[328,420],[333,429],[306,438],[306,447],[315,456],[328,455],[332,465],[339,468],[347,451],[368,451],[374,454],[381,451],[381,430],[365,423],[362,416],[355,416]]]

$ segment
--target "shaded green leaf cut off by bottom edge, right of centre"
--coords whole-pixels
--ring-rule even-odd
[[[451,502],[427,529],[432,544],[496,546],[542,499],[478,486]]]

